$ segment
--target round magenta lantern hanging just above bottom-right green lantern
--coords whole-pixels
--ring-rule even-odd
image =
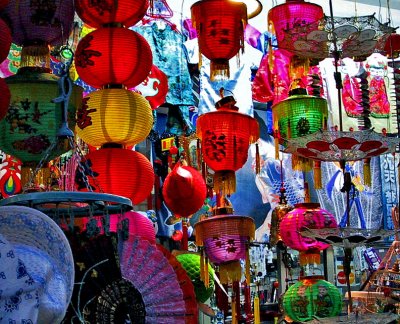
[[[281,221],[280,232],[283,243],[298,251],[327,249],[329,244],[304,237],[300,231],[305,227],[310,229],[336,228],[335,216],[320,208],[319,203],[302,203],[296,204],[294,207]]]

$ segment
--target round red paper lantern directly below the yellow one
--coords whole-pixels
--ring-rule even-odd
[[[122,148],[101,148],[85,155],[92,176],[88,176],[93,191],[127,197],[133,204],[145,200],[154,184],[154,170],[141,153]],[[88,190],[82,173],[77,172],[79,190]]]

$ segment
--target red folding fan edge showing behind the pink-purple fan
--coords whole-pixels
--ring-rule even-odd
[[[199,309],[196,301],[196,293],[192,280],[186,273],[186,270],[182,267],[182,264],[176,259],[176,257],[168,251],[165,247],[157,244],[157,248],[168,258],[169,264],[174,269],[176,276],[178,277],[179,285],[182,289],[183,299],[186,305],[186,323],[195,324],[198,322]]]

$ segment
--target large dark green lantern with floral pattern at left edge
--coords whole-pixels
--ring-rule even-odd
[[[0,121],[0,149],[21,160],[36,164],[42,160],[63,121],[62,103],[52,100],[60,96],[59,77],[42,70],[22,68],[6,78],[11,92],[8,112]],[[73,86],[68,105],[68,124],[75,128],[75,112],[82,100],[82,89]],[[65,153],[68,146],[58,145],[45,162]]]

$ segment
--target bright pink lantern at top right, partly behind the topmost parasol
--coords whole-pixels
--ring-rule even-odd
[[[323,9],[317,4],[304,0],[286,0],[286,3],[268,11],[268,26],[271,33],[276,35],[279,46],[285,38],[285,31],[290,32],[290,29],[300,26],[307,26],[309,29],[310,24],[317,23],[323,17]]]

